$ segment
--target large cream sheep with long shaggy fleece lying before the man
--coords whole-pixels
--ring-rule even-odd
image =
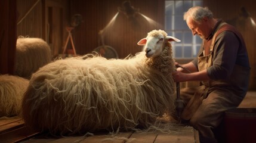
[[[32,75],[23,98],[28,128],[54,135],[131,130],[155,125],[174,110],[171,41],[153,30],[124,59],[87,54],[54,61]]]

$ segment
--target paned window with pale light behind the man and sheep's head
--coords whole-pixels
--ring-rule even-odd
[[[202,6],[202,1],[165,1],[165,32],[181,40],[172,43],[174,58],[194,58],[198,54],[202,39],[198,35],[193,36],[186,21],[183,20],[184,12],[196,5]]]

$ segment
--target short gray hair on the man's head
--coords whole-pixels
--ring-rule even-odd
[[[203,17],[213,18],[212,12],[208,9],[208,7],[192,7],[184,13],[184,20],[187,20],[188,17],[192,17],[192,19],[198,23],[201,23]]]

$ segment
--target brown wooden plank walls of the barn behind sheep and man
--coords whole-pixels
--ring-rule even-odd
[[[1,15],[4,21],[1,23],[0,35],[1,74],[13,72],[15,49],[11,51],[11,47],[15,46],[15,39],[20,35],[47,41],[51,46],[53,58],[61,54],[67,38],[65,28],[70,26],[71,17],[74,14],[81,14],[83,17],[82,23],[72,30],[76,52],[79,55],[88,54],[103,44],[98,34],[103,29],[104,44],[115,48],[119,58],[141,51],[142,47],[138,46],[137,42],[150,30],[164,29],[164,0],[130,0],[132,7],[139,10],[139,14],[135,16],[137,21],[129,20],[124,13],[118,11],[118,7],[121,7],[124,2],[120,0],[15,0],[12,1],[13,3],[4,0],[1,2]],[[11,9],[15,8],[13,5],[16,6],[16,3],[17,13]],[[209,7],[216,18],[224,20],[237,17],[241,6],[244,6],[256,20],[254,3],[233,0],[204,1],[204,5]],[[27,13],[34,4],[36,4],[35,7]],[[106,28],[117,13],[112,26]],[[9,14],[11,15],[8,16]],[[149,23],[140,14],[151,18],[156,24]],[[256,90],[256,30],[250,24],[243,24],[238,29],[245,38],[248,48],[251,64],[250,89]],[[70,45],[67,48],[71,48]]]

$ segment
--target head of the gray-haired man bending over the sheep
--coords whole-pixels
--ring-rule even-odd
[[[201,38],[208,38],[214,24],[213,14],[208,8],[192,7],[184,13],[184,20],[187,26],[192,30],[193,35],[199,35]]]

